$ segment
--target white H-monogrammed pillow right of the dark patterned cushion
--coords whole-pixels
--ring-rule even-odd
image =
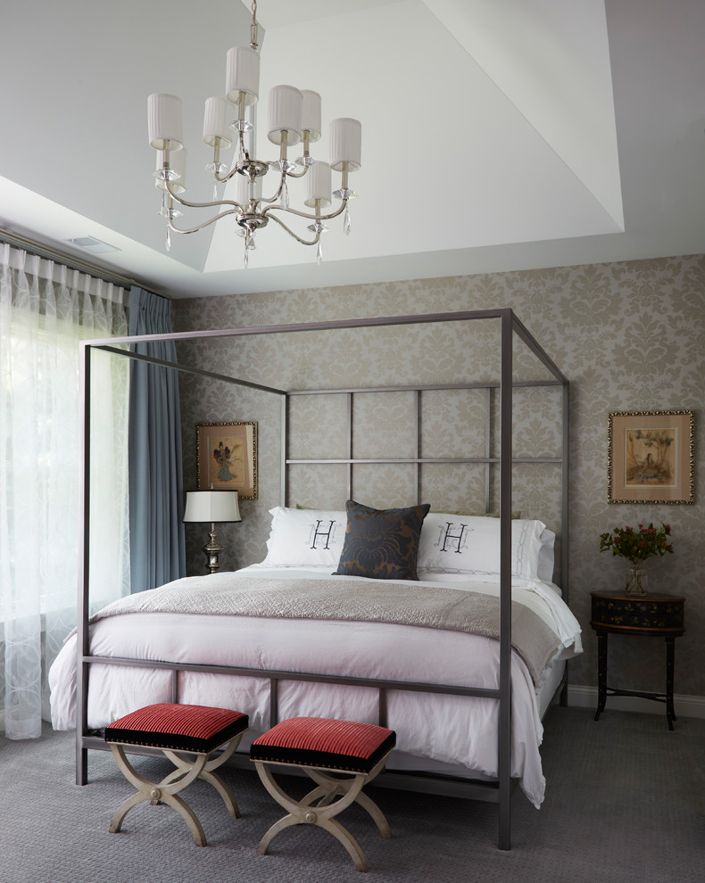
[[[541,521],[511,522],[511,575],[546,580],[555,534]],[[550,547],[550,550],[547,550]],[[539,567],[541,560],[541,568]],[[539,570],[541,574],[539,575]],[[421,528],[419,580],[428,571],[437,574],[499,574],[500,522],[496,518],[429,512]]]

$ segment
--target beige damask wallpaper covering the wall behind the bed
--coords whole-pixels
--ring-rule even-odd
[[[583,626],[585,654],[571,664],[572,684],[595,686],[596,640],[590,628],[590,591],[621,586],[626,562],[599,551],[599,535],[617,525],[661,521],[671,525],[675,554],[646,562],[648,588],[686,598],[683,638],[676,641],[676,694],[705,697],[705,565],[702,502],[702,414],[705,401],[705,256],[636,260],[579,267],[527,270],[482,276],[350,285],[338,288],[174,301],[176,331],[236,326],[288,325],[333,318],[394,316],[460,309],[510,307],[534,334],[571,384],[570,412],[570,605]],[[289,334],[179,344],[182,363],[256,384],[286,389],[342,385],[432,383],[487,379],[496,374],[498,346],[491,323],[469,332],[458,324],[410,326],[404,334],[375,328],[321,335]],[[496,329],[495,329],[496,330]],[[518,359],[518,372],[534,372]],[[546,393],[548,392],[548,395]],[[185,485],[195,487],[195,424],[257,420],[259,499],[241,503],[241,524],[221,525],[227,552],[224,568],[261,560],[268,535],[268,510],[279,501],[278,397],[215,381],[181,378]],[[370,397],[361,408],[365,431],[353,440],[409,450],[402,429],[409,408],[405,393]],[[477,392],[434,399],[424,393],[422,444],[444,456],[468,456],[482,444],[469,430],[479,408]],[[545,390],[518,393],[515,455],[560,450],[556,418],[560,395]],[[553,396],[553,398],[552,398]],[[344,450],[344,414],[333,396],[303,397],[292,415],[296,458],[336,456]],[[607,419],[612,410],[690,408],[695,411],[695,505],[620,505],[607,502]],[[496,431],[496,427],[494,428]],[[481,433],[480,433],[481,434]],[[700,443],[699,443],[700,442]],[[343,455],[341,455],[343,456]],[[371,468],[371,467],[369,467]],[[414,500],[408,467],[353,477],[355,493],[372,506],[407,505]],[[560,510],[552,466],[535,465],[516,476],[513,508],[552,527]],[[467,511],[482,491],[482,475],[438,466],[422,476],[424,501]],[[297,466],[289,503],[343,508],[344,467]],[[364,494],[364,496],[363,496]],[[201,525],[187,525],[189,573],[203,571]],[[663,689],[662,641],[621,636],[610,640],[610,682],[631,689]]]

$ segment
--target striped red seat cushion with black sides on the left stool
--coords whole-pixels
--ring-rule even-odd
[[[109,724],[105,741],[207,754],[248,725],[246,714],[229,708],[161,702],[138,708]]]

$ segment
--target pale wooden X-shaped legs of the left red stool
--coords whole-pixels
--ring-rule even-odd
[[[208,760],[209,754],[203,754],[201,752],[175,752],[167,748],[162,748],[162,753],[169,758],[171,763],[175,764],[176,769],[159,782],[149,781],[141,776],[132,764],[129,763],[129,760],[125,755],[125,749],[122,745],[120,743],[112,742],[110,750],[112,751],[112,756],[115,758],[115,763],[118,764],[120,772],[122,772],[125,778],[137,788],[137,793],[133,794],[120,805],[112,816],[112,821],[110,823],[111,834],[115,834],[120,830],[122,821],[133,806],[137,806],[148,800],[153,805],[166,804],[172,809],[175,809],[184,821],[186,821],[188,828],[193,835],[195,845],[206,846],[205,834],[201,822],[198,821],[198,817],[187,802],[182,797],[178,796],[178,792],[187,788],[187,786],[196,779],[203,779],[204,781],[209,782],[213,788],[218,791],[228,809],[229,815],[239,818],[240,812],[235,797],[225,782],[220,779],[220,776],[212,771],[228,760],[228,757],[233,754],[236,747],[239,745],[240,739],[242,739],[242,733],[238,733],[234,739],[231,739],[228,743],[228,747],[211,761]]]

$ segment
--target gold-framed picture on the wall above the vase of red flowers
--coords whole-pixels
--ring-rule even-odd
[[[609,503],[694,503],[693,411],[612,411]]]

